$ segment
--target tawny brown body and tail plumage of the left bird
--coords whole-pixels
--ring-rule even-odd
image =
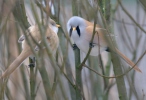
[[[54,22],[53,22],[53,24],[54,24]],[[56,23],[54,25],[56,26]],[[58,32],[58,30],[56,32]],[[29,39],[30,43],[32,44],[32,48],[35,48],[36,47],[36,44],[32,40],[30,34],[31,34],[31,36],[33,37],[33,39],[36,42],[39,43],[42,40],[40,31],[39,31],[39,28],[38,28],[38,25],[31,26],[28,29],[28,33],[27,33],[28,39]],[[47,39],[48,45],[49,45],[52,53],[55,54],[56,53],[56,50],[58,48],[58,45],[59,45],[59,39],[58,39],[57,33],[55,33],[52,30],[52,28],[50,28],[49,25],[48,25],[48,27],[46,29],[45,39]],[[10,66],[6,69],[6,71],[2,74],[2,76],[0,76],[0,78],[5,78],[5,77],[9,76],[18,66],[21,65],[21,63],[27,57],[29,57],[33,53],[32,50],[31,50],[31,48],[30,48],[30,46],[28,45],[27,41],[24,38],[20,39],[20,41],[22,41],[22,48],[23,48],[22,52],[10,64]]]

